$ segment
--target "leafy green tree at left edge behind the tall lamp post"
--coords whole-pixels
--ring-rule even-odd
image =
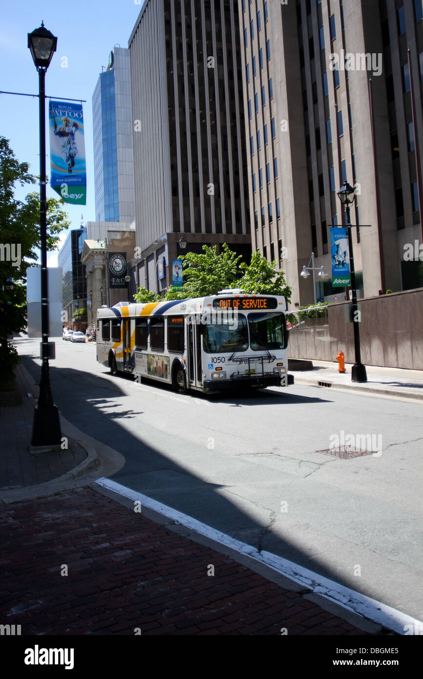
[[[0,136],[0,381],[7,386],[18,364],[7,338],[26,327],[26,269],[35,265],[40,247],[39,194],[33,191],[24,201],[14,198],[16,185],[37,183],[28,170],[29,164],[18,162],[9,141]],[[62,204],[62,199],[47,200],[48,250],[57,249],[58,234],[69,227]]]

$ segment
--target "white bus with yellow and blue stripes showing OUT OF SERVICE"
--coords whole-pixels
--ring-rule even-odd
[[[97,311],[97,361],[179,392],[293,384],[284,297],[238,289]]]

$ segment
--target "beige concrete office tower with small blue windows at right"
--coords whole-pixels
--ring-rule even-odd
[[[293,303],[312,302],[299,274],[312,251],[330,273],[347,179],[360,295],[423,286],[422,0],[239,5],[253,247],[279,259]]]

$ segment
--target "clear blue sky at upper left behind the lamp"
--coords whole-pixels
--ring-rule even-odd
[[[128,47],[128,38],[141,10],[137,0],[14,0],[2,3],[0,23],[0,58],[3,64],[0,90],[38,93],[38,75],[27,47],[27,34],[41,25],[57,36],[57,51],[45,75],[45,93],[52,97],[86,99],[84,128],[87,158],[87,204],[67,206],[71,227],[79,227],[81,213],[86,221],[94,221],[94,161],[92,151],[92,93],[107,66],[109,53],[115,44]],[[62,68],[62,56],[68,67]],[[46,101],[48,111],[48,100]],[[0,94],[0,134],[10,139],[10,147],[19,162],[29,162],[30,171],[39,173],[39,113],[38,98]],[[50,174],[50,151],[47,138],[47,172]],[[22,199],[34,188],[16,189]],[[48,196],[57,194],[48,186]],[[65,240],[67,232],[63,232]],[[49,265],[56,265],[56,256],[49,256]]]

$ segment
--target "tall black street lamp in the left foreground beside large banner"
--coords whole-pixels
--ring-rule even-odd
[[[60,443],[62,433],[58,408],[54,405],[50,385],[48,359],[54,357],[54,342],[48,341],[48,270],[47,270],[47,200],[45,194],[45,71],[54,52],[57,38],[45,29],[41,22],[39,29],[28,34],[28,47],[38,71],[39,82],[39,203],[40,203],[40,245],[41,245],[41,380],[38,403],[34,411],[32,445],[54,445]]]

